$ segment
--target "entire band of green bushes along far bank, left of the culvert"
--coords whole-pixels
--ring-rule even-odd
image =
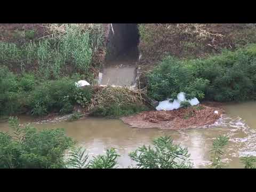
[[[76,87],[73,79],[63,77],[41,83],[33,74],[18,77],[0,67],[0,115],[18,114],[23,108],[36,116],[51,112],[67,114],[74,105],[89,105],[91,97],[92,87]]]

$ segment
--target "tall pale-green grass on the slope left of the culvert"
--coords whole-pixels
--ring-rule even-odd
[[[103,44],[102,25],[81,28],[65,25],[59,35],[30,41],[23,45],[0,42],[0,63],[17,63],[22,73],[36,67],[38,77],[44,79],[67,76],[76,71],[90,76],[92,57]]]

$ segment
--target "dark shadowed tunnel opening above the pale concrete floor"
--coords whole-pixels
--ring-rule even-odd
[[[137,23],[112,23],[108,35],[106,61],[138,60],[139,41]]]

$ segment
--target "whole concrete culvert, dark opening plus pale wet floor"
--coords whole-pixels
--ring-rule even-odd
[[[111,23],[100,85],[133,86],[137,77],[140,35],[137,23]]]

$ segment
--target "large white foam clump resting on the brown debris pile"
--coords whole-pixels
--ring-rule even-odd
[[[159,105],[156,107],[156,110],[160,111],[160,110],[179,109],[181,107],[180,102],[184,102],[184,101],[188,101],[191,106],[195,106],[195,105],[199,104],[199,101],[197,98],[186,100],[185,93],[183,93],[183,92],[180,92],[177,95],[177,99],[174,99],[173,102],[170,102],[170,100],[171,99],[167,99],[167,100],[159,102]]]

